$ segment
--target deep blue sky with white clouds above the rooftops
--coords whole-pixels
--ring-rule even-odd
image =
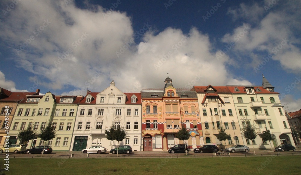
[[[15,2],[16,3],[16,2]],[[56,95],[261,85],[301,108],[300,1],[0,2],[0,87]]]

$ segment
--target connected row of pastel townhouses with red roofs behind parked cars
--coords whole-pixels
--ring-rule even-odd
[[[270,149],[262,140],[267,127],[273,146],[294,144],[287,117],[274,87],[263,76],[262,86],[194,86],[176,89],[167,77],[164,88],[143,88],[140,93],[124,93],[112,81],[102,92],[87,91],[85,96],[62,96],[51,92],[10,92],[0,88],[0,146],[21,144],[18,132],[28,125],[37,133],[48,123],[56,137],[44,143],[38,136],[29,140],[27,148],[51,145],[54,150],[80,151],[90,146],[115,148],[107,140],[105,130],[112,124],[126,130],[119,145],[130,145],[137,151],[162,151],[182,143],[175,134],[185,127],[190,133],[190,149],[204,144],[222,144],[216,138],[221,128],[231,135],[226,147],[234,144],[254,145]],[[5,112],[8,108],[9,115]],[[9,131],[5,130],[8,116]],[[255,140],[241,133],[245,122],[257,125]]]

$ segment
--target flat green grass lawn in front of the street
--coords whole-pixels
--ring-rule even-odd
[[[301,156],[215,158],[11,158],[5,174],[300,174]],[[3,166],[3,160],[0,161]],[[1,173],[0,173],[1,174]]]

